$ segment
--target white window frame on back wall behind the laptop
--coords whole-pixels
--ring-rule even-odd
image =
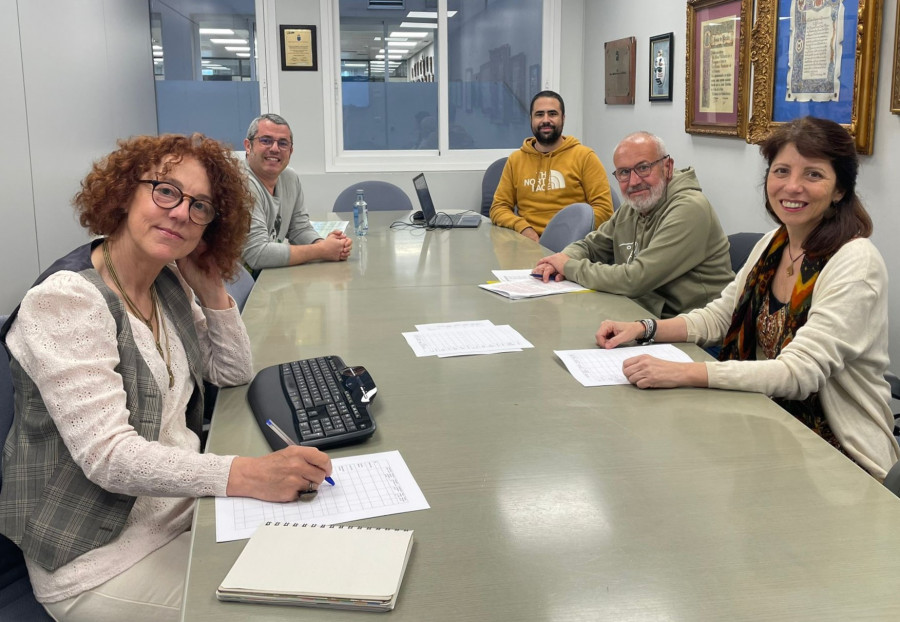
[[[272,0],[257,0],[257,3]],[[559,90],[560,26],[562,0],[543,0],[541,46],[541,88]],[[450,149],[448,82],[438,80],[438,148],[417,150],[344,151],[341,125],[339,0],[319,0],[322,16],[322,91],[324,100],[325,172],[402,172],[484,170],[494,160],[509,155],[510,149]],[[257,23],[259,23],[257,17]],[[258,28],[259,30],[259,28]],[[266,24],[266,33],[273,32]],[[447,0],[438,0],[438,75],[447,70]],[[277,44],[277,43],[276,43]],[[268,44],[267,44],[268,46]],[[276,50],[277,52],[277,50]],[[271,53],[271,51],[270,51]],[[269,56],[275,58],[275,56]],[[261,74],[262,75],[262,74]],[[269,101],[277,101],[277,80],[270,77],[265,87]],[[276,86],[273,88],[273,84]],[[265,95],[265,90],[263,91]],[[523,136],[523,139],[525,137]]]

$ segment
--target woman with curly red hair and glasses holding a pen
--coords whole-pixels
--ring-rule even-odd
[[[242,167],[218,142],[140,136],[75,197],[99,237],[44,272],[0,331],[16,413],[0,531],[58,620],[177,619],[193,499],[314,490],[324,453],[200,453],[203,380],[247,382],[225,290],[249,227]]]

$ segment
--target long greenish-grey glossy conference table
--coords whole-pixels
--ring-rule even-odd
[[[900,499],[752,393],[586,388],[554,356],[593,347],[627,298],[511,301],[476,286],[548,251],[508,229],[390,229],[370,215],[343,263],[263,271],[243,316],[256,370],[338,354],[379,392],[378,429],[332,457],[399,450],[431,509],[357,521],[413,529],[395,621],[897,620]],[[522,352],[416,358],[416,324],[489,319]],[[683,345],[695,360],[707,355]],[[208,451],[269,451],[247,387],[219,395]],[[374,615],[218,602],[245,541],[217,544],[200,499],[182,618]],[[315,564],[297,555],[296,563]]]

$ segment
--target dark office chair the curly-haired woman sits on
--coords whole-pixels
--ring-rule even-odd
[[[0,326],[8,316],[0,316]],[[6,348],[0,345],[0,447],[12,426],[15,406],[12,375]],[[0,486],[3,485],[0,474]],[[52,620],[34,598],[22,551],[6,536],[0,535],[0,620],[44,622]]]

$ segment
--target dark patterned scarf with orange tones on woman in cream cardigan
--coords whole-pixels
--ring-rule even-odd
[[[788,244],[787,230],[781,227],[769,243],[769,247],[753,266],[747,276],[747,283],[738,301],[731,326],[725,335],[720,361],[753,361],[756,360],[757,334],[756,320],[762,310],[763,301],[771,289],[775,271],[781,262],[781,256]],[[809,307],[812,303],[812,291],[819,278],[819,272],[831,259],[831,255],[810,257],[804,255],[800,264],[800,278],[791,292],[787,303],[787,313],[776,355],[791,342],[797,330],[806,324]],[[822,436],[825,440],[837,445],[837,440],[825,420],[825,413],[819,403],[819,396],[813,393],[804,400],[786,400],[775,398],[774,401],[789,413],[800,419],[807,427]],[[839,446],[838,446],[839,447]]]

